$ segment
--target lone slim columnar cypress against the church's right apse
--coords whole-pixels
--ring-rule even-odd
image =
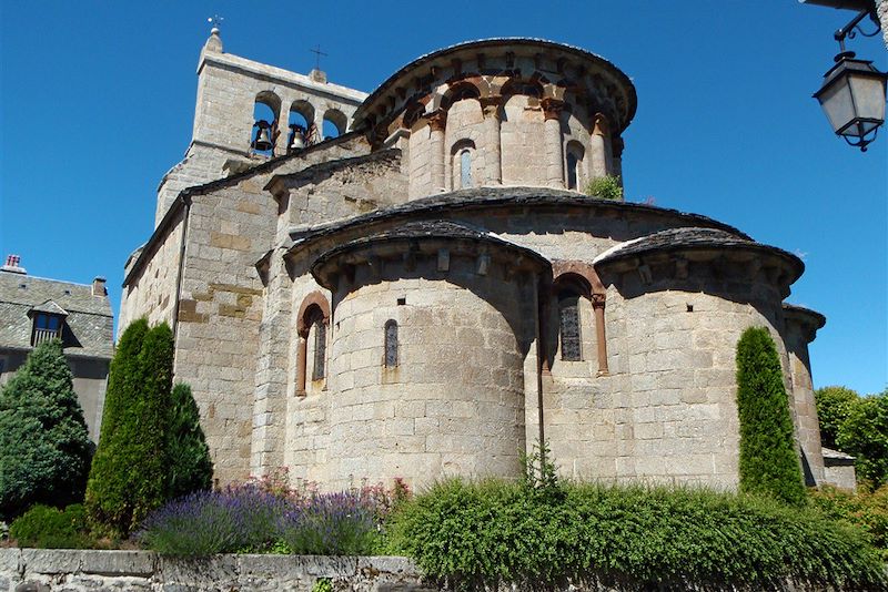
[[[737,343],[740,491],[805,502],[780,359],[768,330],[750,327]]]

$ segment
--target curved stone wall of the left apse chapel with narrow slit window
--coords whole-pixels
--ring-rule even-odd
[[[433,265],[386,264],[386,282],[359,275],[361,287],[337,293],[329,390],[291,406],[295,426],[329,430],[326,452],[317,462],[316,438],[290,442],[295,478],[336,489],[402,477],[415,488],[445,474],[519,473],[532,284],[498,269],[478,276],[473,259],[452,257],[446,277]],[[383,361],[389,319],[398,323],[394,368]]]

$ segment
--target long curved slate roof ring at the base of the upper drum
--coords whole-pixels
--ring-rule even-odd
[[[687,214],[677,210],[668,210],[647,204],[632,202],[618,202],[614,200],[603,200],[601,197],[589,197],[581,193],[565,190],[554,190],[547,187],[474,187],[460,190],[450,193],[442,193],[420,200],[382,207],[360,216],[354,216],[344,221],[329,224],[319,224],[311,228],[291,228],[290,237],[293,241],[310,241],[316,237],[335,234],[340,231],[371,224],[383,220],[410,216],[413,214],[438,214],[453,210],[488,210],[495,207],[509,206],[579,206],[579,207],[601,207],[607,210],[622,211],[627,214],[636,212],[648,212],[652,214],[666,214],[679,216],[695,226],[708,226],[724,231],[728,236],[740,239],[751,241],[748,235],[727,224],[723,224],[713,218],[699,214]]]

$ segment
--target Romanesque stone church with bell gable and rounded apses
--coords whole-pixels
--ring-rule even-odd
[[[225,53],[213,29],[120,326],[174,328],[220,482],[516,477],[545,440],[567,477],[735,488],[750,326],[824,481],[825,319],[785,302],[801,261],[583,193],[623,177],[636,101],[604,58],[537,39],[435,51],[367,95]]]

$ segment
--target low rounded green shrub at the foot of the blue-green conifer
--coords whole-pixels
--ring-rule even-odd
[[[89,549],[94,545],[87,528],[82,504],[64,510],[34,506],[9,527],[9,535],[19,547],[39,549]]]

